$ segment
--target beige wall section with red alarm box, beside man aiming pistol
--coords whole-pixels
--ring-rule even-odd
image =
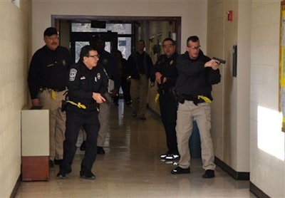
[[[237,172],[249,170],[249,74],[251,1],[209,1],[208,55],[227,61],[222,82],[213,86],[212,136],[215,155]],[[233,12],[232,21],[227,11]],[[232,48],[237,45],[237,77]]]

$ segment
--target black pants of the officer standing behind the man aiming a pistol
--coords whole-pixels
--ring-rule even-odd
[[[178,154],[177,138],[176,138],[176,119],[177,119],[177,102],[175,96],[166,92],[160,94],[160,115],[162,123],[165,127],[166,142],[168,153]]]

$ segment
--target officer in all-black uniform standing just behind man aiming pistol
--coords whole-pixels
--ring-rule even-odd
[[[168,151],[160,155],[163,160],[175,160],[179,157],[176,140],[176,112],[177,102],[173,89],[177,79],[175,41],[165,38],[162,42],[164,54],[155,63],[155,81],[159,94],[160,115],[165,127],[165,135]],[[153,76],[152,76],[153,78]]]

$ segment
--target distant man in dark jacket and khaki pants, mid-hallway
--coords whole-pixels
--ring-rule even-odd
[[[144,49],[145,41],[138,41],[137,51],[129,56],[126,67],[128,79],[130,79],[132,116],[138,115],[140,120],[146,119],[148,79],[153,67],[152,60]],[[153,86],[154,82],[151,82],[150,85]]]

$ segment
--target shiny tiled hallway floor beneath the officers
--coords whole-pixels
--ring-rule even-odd
[[[93,166],[95,180],[79,177],[83,152],[78,149],[67,179],[56,179],[56,166],[48,182],[21,182],[16,197],[255,197],[249,181],[236,181],[219,167],[214,179],[203,179],[197,158],[191,161],[191,174],[170,174],[175,165],[159,157],[166,151],[160,118],[150,111],[147,120],[130,114],[122,101],[112,107],[106,154],[98,155]],[[81,141],[82,135],[78,147]]]

